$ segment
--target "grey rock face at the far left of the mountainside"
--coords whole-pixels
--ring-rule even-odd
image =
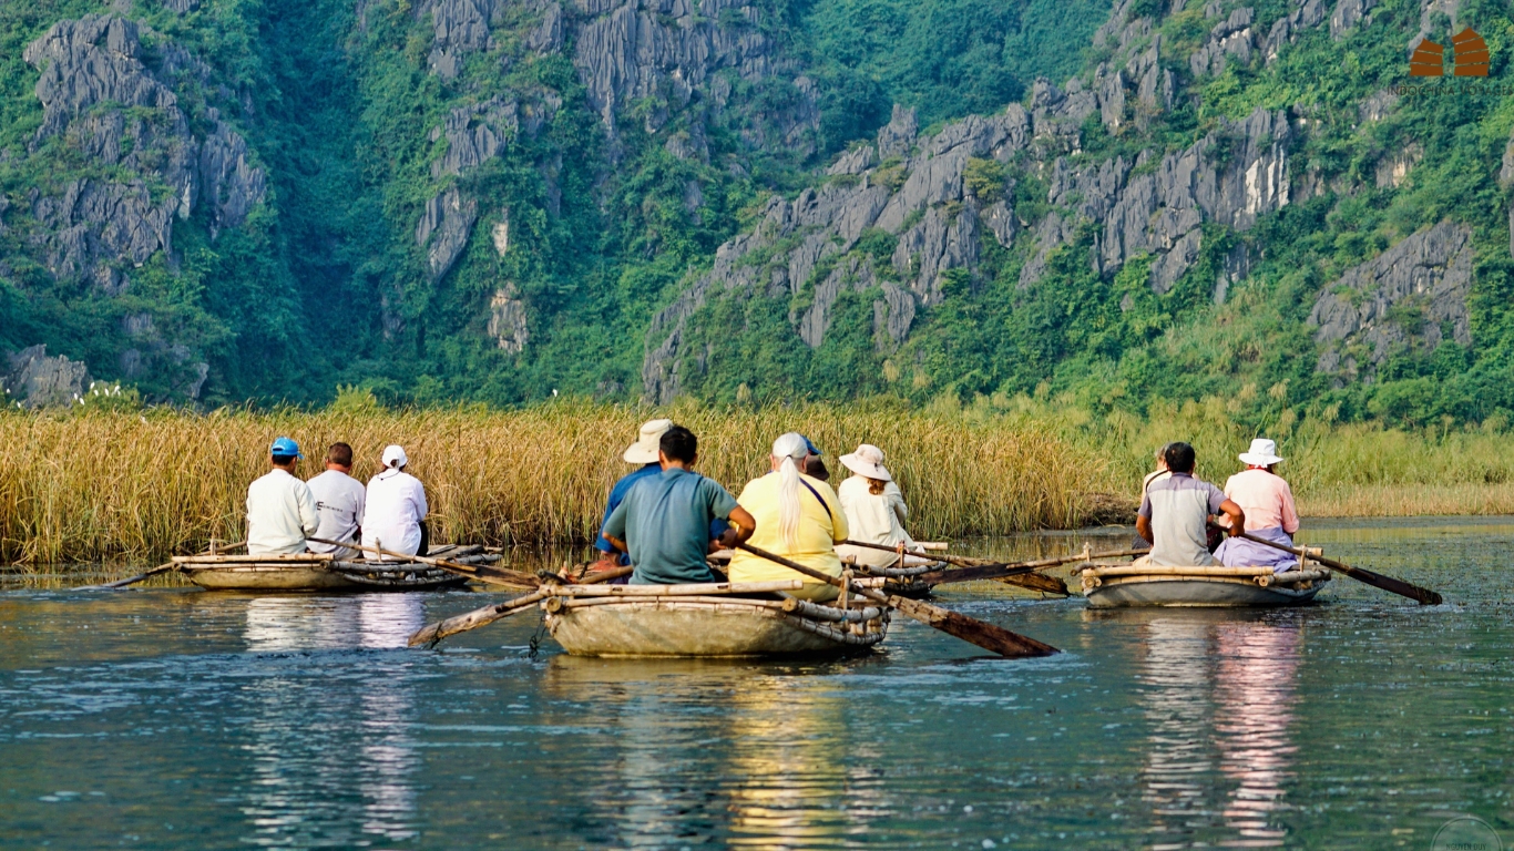
[[[247,141],[215,108],[194,123],[182,109],[176,89],[198,94],[210,70],[173,41],[117,15],[85,15],[53,24],[23,56],[39,71],[42,118],[21,156],[77,164],[5,210],[53,279],[130,301],[136,270],[154,256],[177,262],[177,223],[198,215],[213,241],[263,201]],[[173,395],[198,397],[201,351],[164,335],[151,313],[124,312],[118,335],[118,362],[98,368],[129,382],[167,374]]]

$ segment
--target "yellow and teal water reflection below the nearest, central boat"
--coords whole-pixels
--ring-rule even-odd
[[[743,848],[863,843],[890,813],[889,756],[854,740],[858,710],[828,669],[774,663],[554,657],[556,701],[595,706],[612,765],[581,777],[615,848],[712,840]],[[677,754],[671,757],[671,754]]]

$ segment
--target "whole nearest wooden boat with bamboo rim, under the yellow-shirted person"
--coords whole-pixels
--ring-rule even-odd
[[[572,656],[849,656],[887,636],[887,609],[861,598],[819,604],[783,597],[799,588],[799,580],[577,584],[540,606],[551,636]]]

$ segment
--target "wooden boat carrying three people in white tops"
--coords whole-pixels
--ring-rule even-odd
[[[457,544],[433,547],[430,557],[463,565],[500,560],[483,547]],[[428,591],[468,583],[466,577],[419,562],[338,560],[330,553],[176,556],[174,566],[209,591]]]

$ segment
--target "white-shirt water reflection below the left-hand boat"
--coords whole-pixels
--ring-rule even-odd
[[[242,686],[254,712],[244,745],[251,833],[242,842],[338,848],[418,836],[410,681],[378,665],[351,683],[356,689],[332,687],[319,675],[329,663],[319,651],[403,648],[422,622],[413,594],[247,603],[248,650],[288,656],[263,659],[260,675]]]

